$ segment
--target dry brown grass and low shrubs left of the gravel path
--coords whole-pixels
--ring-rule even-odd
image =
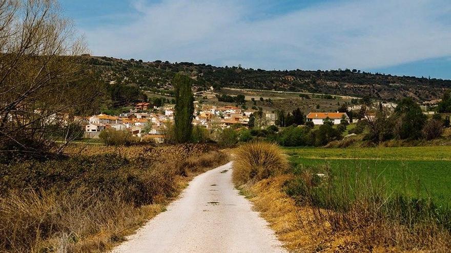
[[[96,252],[165,210],[191,176],[226,163],[203,145],[73,146],[0,168],[0,251]]]

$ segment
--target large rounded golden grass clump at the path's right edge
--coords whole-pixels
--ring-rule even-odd
[[[288,168],[288,158],[277,144],[251,142],[235,151],[232,178],[239,185],[280,175]]]

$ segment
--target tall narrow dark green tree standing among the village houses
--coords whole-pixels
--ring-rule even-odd
[[[192,80],[182,74],[176,74],[172,79],[175,87],[174,132],[178,143],[191,140],[193,131],[194,96],[191,90]]]

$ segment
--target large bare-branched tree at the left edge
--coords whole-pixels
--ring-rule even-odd
[[[83,39],[59,14],[55,0],[0,0],[3,154],[45,155],[54,133],[97,103]]]

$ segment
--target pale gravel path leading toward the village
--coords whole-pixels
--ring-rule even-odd
[[[112,252],[286,252],[233,187],[231,165],[195,177],[166,212]]]

